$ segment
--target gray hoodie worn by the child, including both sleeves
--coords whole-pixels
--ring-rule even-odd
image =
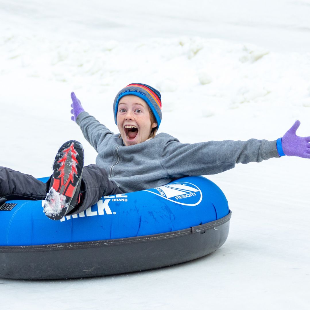
[[[139,144],[125,146],[95,117],[77,117],[86,140],[98,152],[96,164],[108,172],[124,193],[165,185],[187,175],[210,175],[233,168],[236,163],[261,162],[279,157],[276,141],[208,141],[181,143],[166,133]]]

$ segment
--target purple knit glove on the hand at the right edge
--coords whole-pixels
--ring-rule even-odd
[[[296,121],[290,130],[282,138],[278,139],[281,139],[277,141],[277,150],[280,156],[287,155],[310,158],[310,137],[299,137],[296,135],[299,125],[300,122]]]

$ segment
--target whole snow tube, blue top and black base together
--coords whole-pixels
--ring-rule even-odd
[[[92,277],[185,262],[217,250],[231,216],[224,193],[201,176],[102,197],[59,221],[43,205],[14,200],[0,208],[0,277]]]

